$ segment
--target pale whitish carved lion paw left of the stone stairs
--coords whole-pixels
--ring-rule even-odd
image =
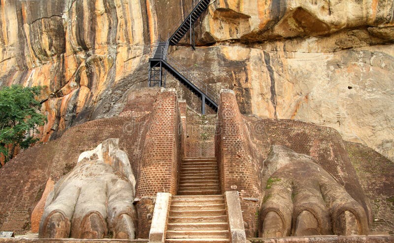
[[[135,179],[119,139],[83,152],[47,197],[39,237],[134,239]]]

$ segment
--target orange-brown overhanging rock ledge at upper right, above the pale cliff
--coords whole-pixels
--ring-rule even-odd
[[[392,0],[220,0],[211,3],[200,32],[202,43],[259,42],[393,23]]]

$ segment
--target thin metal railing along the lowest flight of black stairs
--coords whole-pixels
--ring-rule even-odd
[[[186,79],[188,79],[191,83],[196,85],[196,87],[205,93],[205,95],[210,98],[213,102],[218,104],[219,95],[215,92],[208,84],[198,81],[199,79],[192,74],[187,68],[182,66],[177,60],[167,54],[166,62],[175,68],[180,74],[182,74]]]

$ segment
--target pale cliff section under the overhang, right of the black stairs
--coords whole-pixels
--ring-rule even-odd
[[[354,32],[369,38],[366,30]],[[233,89],[242,113],[332,127],[345,140],[363,143],[393,160],[393,45],[365,46],[353,36],[360,47],[341,50],[347,48],[341,41],[351,35],[253,47],[217,45],[194,53],[178,48],[172,54],[182,56],[181,62],[216,90]],[[180,93],[192,99],[188,91]]]

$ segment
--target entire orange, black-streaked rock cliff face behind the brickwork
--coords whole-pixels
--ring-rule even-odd
[[[115,116],[147,85],[149,43],[190,6],[0,0],[0,85],[46,85],[44,141]],[[218,91],[233,89],[243,113],[333,127],[394,160],[394,0],[212,0],[196,29],[195,52],[170,54]]]

